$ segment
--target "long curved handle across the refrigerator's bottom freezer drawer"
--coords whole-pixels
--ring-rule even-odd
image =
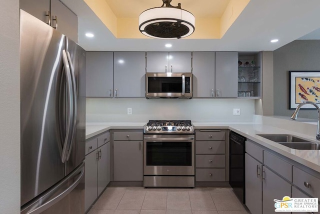
[[[53,204],[55,204],[56,202],[61,200],[64,196],[69,194],[80,183],[81,178],[83,177],[83,175],[84,175],[84,163],[82,163],[80,165],[78,170],[75,170],[72,174],[70,174],[68,177],[63,179],[63,181],[60,183],[60,184],[63,184],[64,182],[68,182],[68,179],[70,179],[72,177],[75,177],[75,176],[78,176],[70,186],[68,186],[65,190],[63,190],[58,195],[56,195],[52,199],[49,199],[46,202],[43,202],[44,198],[40,198],[38,201],[43,203],[43,204],[41,204],[41,205],[36,207],[36,203],[37,202],[35,202],[35,203],[31,204],[30,206],[28,206],[27,208],[21,210],[21,214],[38,214],[38,213],[41,213],[42,211],[46,210],[47,208],[49,208],[50,206],[52,206]],[[58,187],[59,187],[59,185],[57,185],[55,188],[58,188]],[[56,191],[55,188],[52,189],[50,192],[48,192],[48,194],[44,195],[44,197],[48,197],[49,198],[50,197],[50,193],[54,194],[55,191]]]

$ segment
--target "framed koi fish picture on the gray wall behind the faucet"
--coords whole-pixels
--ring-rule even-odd
[[[289,109],[295,109],[303,101],[320,105],[320,71],[289,71]],[[303,105],[301,109],[315,109]]]

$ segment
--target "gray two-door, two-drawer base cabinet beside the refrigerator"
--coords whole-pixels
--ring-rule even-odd
[[[85,143],[85,201],[88,210],[110,182],[110,133],[105,132]]]

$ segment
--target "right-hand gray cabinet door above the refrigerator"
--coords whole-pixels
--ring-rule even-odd
[[[51,26],[78,42],[78,18],[59,0],[50,0]]]

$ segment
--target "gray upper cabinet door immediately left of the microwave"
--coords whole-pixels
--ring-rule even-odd
[[[114,52],[114,97],[145,96],[145,52]]]

